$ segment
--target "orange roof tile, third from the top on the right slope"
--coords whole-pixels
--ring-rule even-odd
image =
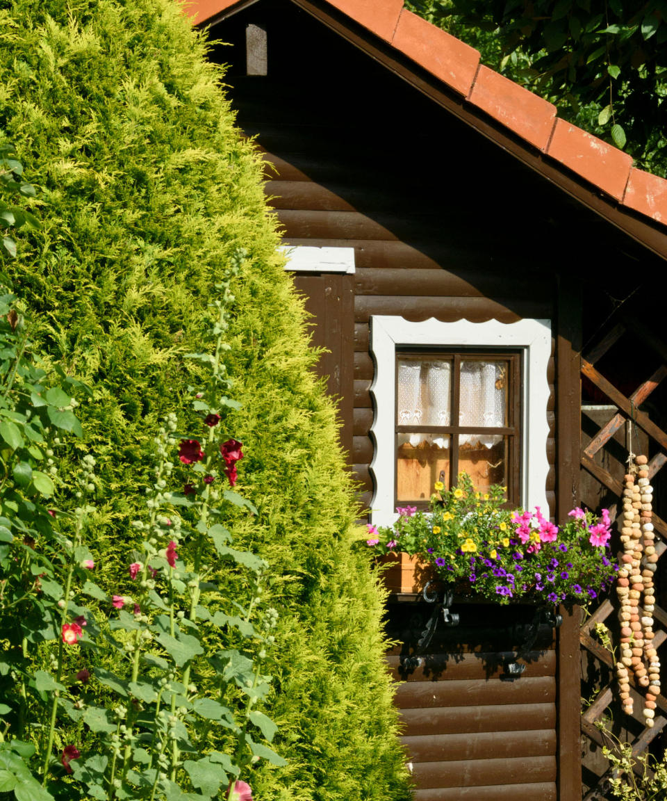
[[[547,147],[556,107],[539,95],[480,66],[468,100],[540,150]]]

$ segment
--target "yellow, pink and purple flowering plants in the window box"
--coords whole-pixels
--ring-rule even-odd
[[[585,604],[613,583],[618,566],[609,553],[607,509],[599,520],[573,509],[559,528],[539,506],[507,509],[504,492],[494,485],[481,493],[462,473],[455,488],[436,487],[428,513],[397,508],[396,522],[373,526],[367,544],[376,553],[417,556],[456,593],[499,603]],[[492,570],[473,570],[478,563]]]

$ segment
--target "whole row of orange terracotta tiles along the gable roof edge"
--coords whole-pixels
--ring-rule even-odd
[[[480,65],[480,54],[403,7],[403,0],[327,0],[424,70],[439,78],[520,139],[627,207],[667,226],[667,180],[634,168],[627,153],[575,125],[557,109],[503,75]],[[247,0],[187,0],[195,25],[215,22]]]

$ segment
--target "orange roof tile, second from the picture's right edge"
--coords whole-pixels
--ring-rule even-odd
[[[622,199],[632,156],[564,119],[556,120],[547,153],[608,195]]]

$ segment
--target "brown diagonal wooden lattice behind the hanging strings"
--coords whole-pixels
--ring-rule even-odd
[[[633,341],[638,340],[642,346],[647,346],[660,356],[663,364],[652,376],[649,376],[630,396],[625,396],[620,392],[601,372],[597,370],[595,364],[597,360],[604,356],[604,354],[617,344],[621,336],[632,336]],[[621,481],[614,478],[607,470],[601,465],[598,465],[594,460],[595,454],[605,447],[605,444],[612,439],[627,421],[632,421],[638,429],[641,429],[661,449],[656,456],[649,462],[649,477],[653,477],[656,473],[667,464],[667,433],[659,428],[653,421],[650,420],[648,415],[641,412],[638,407],[650,396],[650,394],[658,387],[662,380],[667,377],[667,346],[660,340],[657,340],[644,326],[637,323],[635,320],[624,320],[622,323],[617,324],[610,330],[600,342],[585,354],[585,358],[581,360],[581,373],[594,386],[602,392],[618,409],[617,413],[612,419],[607,422],[592,438],[585,449],[581,452],[581,467],[585,469],[593,478],[603,485],[613,496],[616,496],[619,501],[623,493],[623,486]],[[667,545],[667,523],[658,517],[655,511],[653,512],[653,525],[658,535],[656,539],[656,552],[659,557],[665,553]],[[603,602],[601,606],[589,617],[585,624],[581,627],[580,642],[582,648],[587,650],[589,654],[609,668],[609,675],[614,676],[613,658],[605,647],[601,646],[597,639],[593,638],[593,631],[597,623],[604,623],[610,615],[616,613],[613,603],[609,600]],[[656,630],[654,643],[659,647],[665,639],[667,639],[667,611],[660,606],[655,606],[653,618],[656,622],[654,626]],[[662,628],[658,627],[658,624]],[[657,698],[656,717],[654,718],[653,728],[643,726],[643,718],[641,718],[641,695],[637,693],[636,686],[633,678],[630,678],[631,693],[634,696],[634,708],[636,710],[635,719],[641,724],[641,733],[630,740],[633,756],[641,755],[648,749],[649,744],[665,729],[667,726],[667,699],[664,695]],[[582,715],[581,727],[584,735],[599,747],[609,747],[613,750],[613,742],[605,737],[605,734],[599,727],[596,726],[596,721],[601,718],[601,715],[609,707],[614,700],[614,686],[615,680],[612,678],[611,682],[602,686],[597,693],[594,702],[585,710]],[[637,771],[641,768],[637,767]],[[603,775],[598,777],[597,783],[585,795],[584,801],[597,801],[597,799],[605,799],[606,780],[609,779],[611,769],[605,771]]]

